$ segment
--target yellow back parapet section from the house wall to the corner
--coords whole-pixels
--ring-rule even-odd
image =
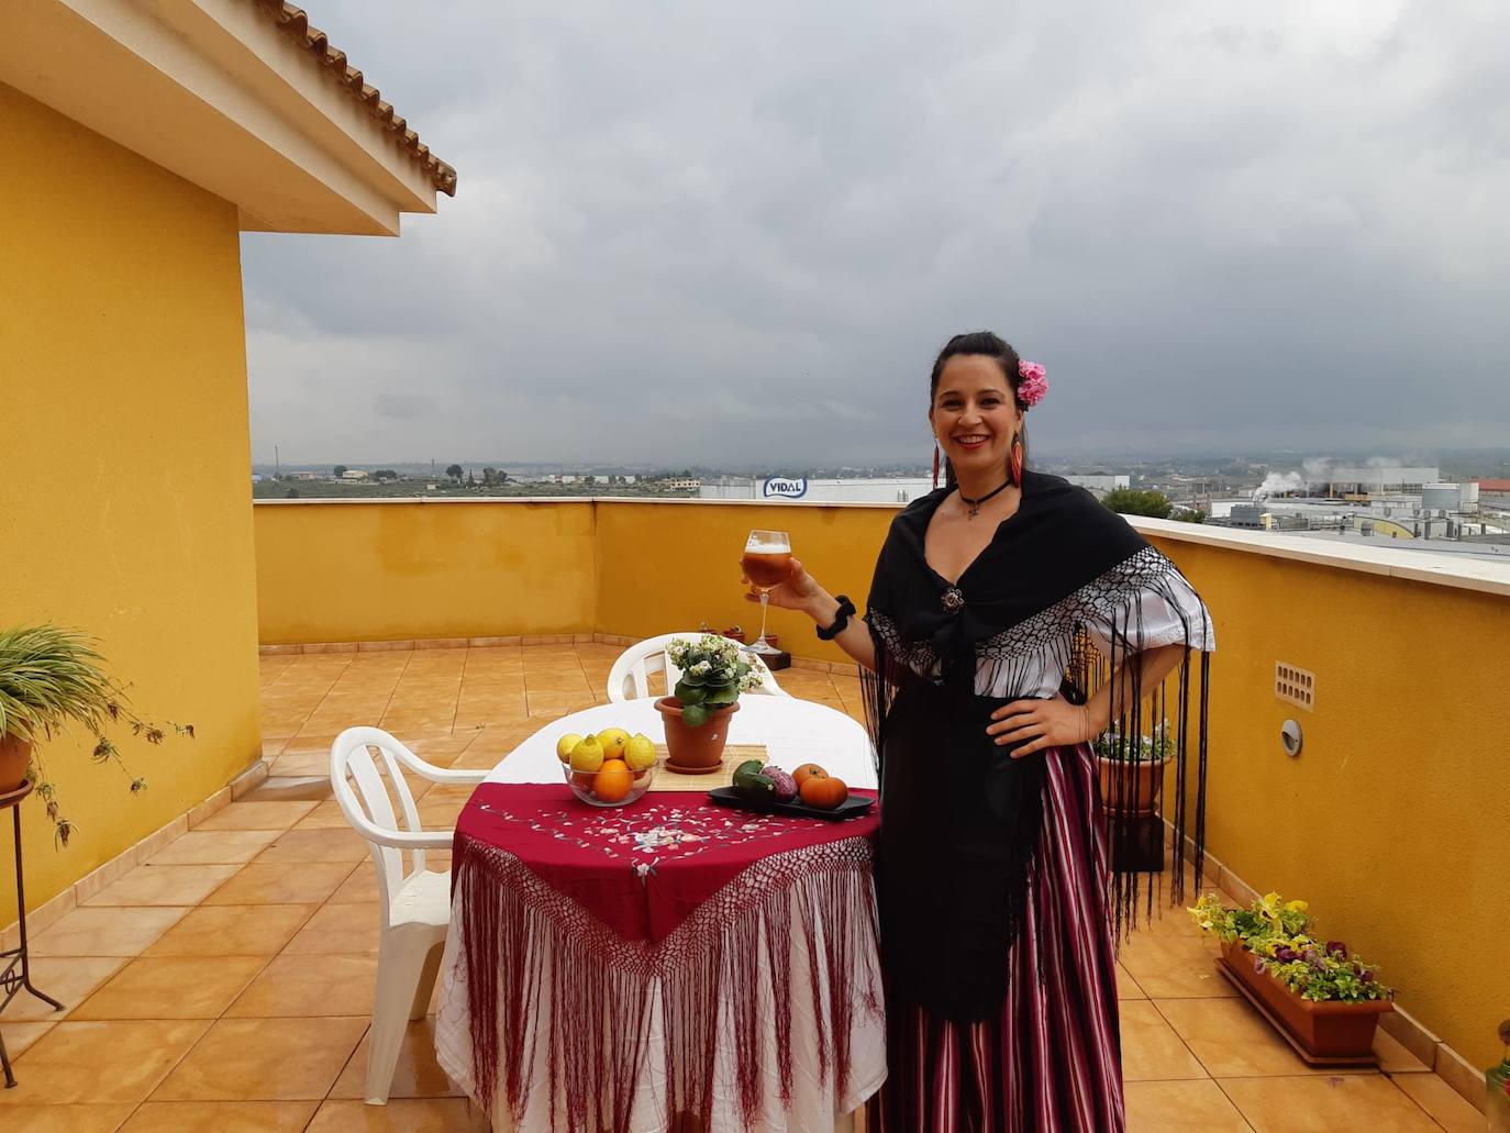
[[[590,503],[258,503],[264,644],[590,633]]]

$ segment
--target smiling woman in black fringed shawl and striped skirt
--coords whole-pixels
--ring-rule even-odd
[[[862,666],[880,755],[880,1133],[1123,1128],[1113,938],[1136,915],[1137,875],[1113,891],[1087,742],[1113,724],[1149,731],[1145,690],[1176,666],[1172,810],[1184,838],[1196,799],[1200,852],[1211,621],[1119,515],[1024,467],[1024,415],[1046,388],[997,335],[951,338],[929,405],[947,482],[894,520],[864,619],[800,562],[770,594]],[[1187,786],[1191,648],[1202,696]],[[1129,770],[1113,799],[1132,798]],[[1113,816],[1111,844],[1136,834]]]

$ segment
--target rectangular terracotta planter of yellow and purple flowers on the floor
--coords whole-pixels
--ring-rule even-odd
[[[1308,1062],[1373,1064],[1379,1017],[1394,989],[1342,941],[1318,940],[1303,900],[1270,893],[1229,909],[1214,893],[1190,915],[1222,943],[1222,968]]]

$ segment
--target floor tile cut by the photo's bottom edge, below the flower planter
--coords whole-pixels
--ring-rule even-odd
[[[1383,1074],[1223,1079],[1220,1086],[1256,1133],[1439,1133]]]

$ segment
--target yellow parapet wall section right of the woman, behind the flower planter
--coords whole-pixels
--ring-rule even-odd
[[[1217,627],[1206,844],[1480,1067],[1510,1015],[1510,598],[1155,538]],[[1273,693],[1311,669],[1315,710]],[[1305,730],[1299,758],[1279,730]]]

